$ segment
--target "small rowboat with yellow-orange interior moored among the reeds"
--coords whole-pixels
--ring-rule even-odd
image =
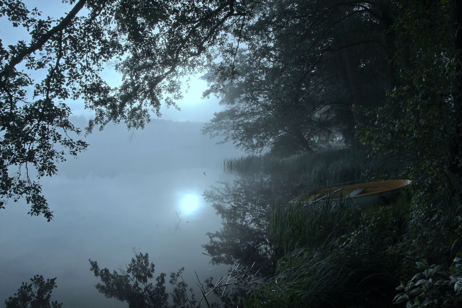
[[[378,181],[355,185],[338,187],[328,187],[310,193],[304,193],[300,197],[293,199],[289,204],[294,204],[297,200],[308,203],[322,203],[326,199],[338,202],[340,198],[350,199],[351,202],[359,207],[374,205],[380,201],[389,201],[401,192],[401,188],[409,185],[409,180]]]

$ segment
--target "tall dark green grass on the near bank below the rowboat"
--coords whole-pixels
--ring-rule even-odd
[[[349,200],[278,205],[275,277],[247,307],[391,307],[399,258],[388,247],[408,203],[358,209]]]

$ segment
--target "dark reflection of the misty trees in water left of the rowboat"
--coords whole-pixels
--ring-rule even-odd
[[[298,193],[299,175],[293,172],[241,175],[233,183],[217,182],[204,192],[212,203],[223,227],[208,232],[204,247],[213,264],[250,264],[262,276],[274,270],[273,247],[269,239],[271,218],[276,201],[287,202]]]

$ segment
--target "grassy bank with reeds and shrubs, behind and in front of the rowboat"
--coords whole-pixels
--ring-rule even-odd
[[[402,166],[341,150],[228,159],[224,169],[292,174],[310,187],[396,178]],[[276,206],[275,275],[244,300],[247,307],[459,307],[462,211],[447,191],[414,185],[389,204],[359,209],[345,201],[331,210],[303,201]]]

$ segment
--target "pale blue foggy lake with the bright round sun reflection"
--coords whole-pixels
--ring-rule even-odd
[[[73,123],[85,127],[86,119]],[[155,276],[183,266],[190,286],[194,271],[201,280],[223,276],[228,267],[212,266],[201,254],[206,232],[221,226],[202,193],[215,181],[231,181],[223,159],[243,152],[215,145],[202,125],[156,119],[131,141],[124,125],[95,130],[86,138],[88,151],[40,180],[54,221],[28,216],[25,202],[8,203],[0,213],[0,300],[40,274],[57,277],[52,299],[64,307],[128,307],[97,292],[88,259],[111,271],[125,268],[133,247],[149,253]]]

